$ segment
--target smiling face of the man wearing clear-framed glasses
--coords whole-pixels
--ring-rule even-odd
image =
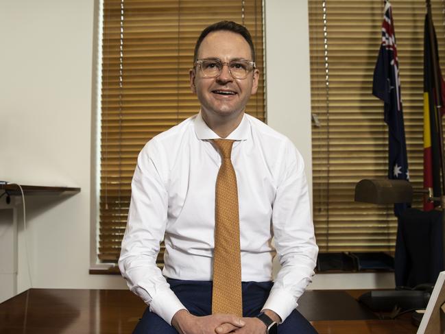
[[[240,34],[217,31],[211,32],[202,40],[197,58],[218,58],[221,62],[230,62],[239,59],[252,60],[252,53],[249,44]],[[203,77],[199,66],[192,69],[191,89],[200,100],[204,117],[239,117],[250,95],[256,93],[258,73],[254,69],[244,79],[234,79],[228,66],[224,66],[217,77]]]

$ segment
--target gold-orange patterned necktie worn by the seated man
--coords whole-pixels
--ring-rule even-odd
[[[215,139],[221,152],[215,192],[215,254],[212,313],[243,316],[237,176],[230,155],[234,141]]]

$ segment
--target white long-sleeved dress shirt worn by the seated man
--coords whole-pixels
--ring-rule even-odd
[[[199,113],[158,134],[139,154],[119,268],[128,287],[167,323],[185,309],[165,280],[212,281],[215,183],[219,136]],[[282,321],[311,282],[315,244],[304,162],[282,134],[244,115],[226,139],[235,140],[242,281],[272,281],[263,309]],[[275,247],[272,245],[274,237]],[[165,238],[165,266],[156,265]]]

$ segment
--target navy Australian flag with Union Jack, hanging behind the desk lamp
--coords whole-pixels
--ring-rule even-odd
[[[385,123],[388,125],[389,132],[388,178],[409,180],[396,34],[394,33],[394,21],[392,19],[392,6],[389,1],[385,3],[382,44],[374,69],[372,94],[385,102]],[[394,214],[398,217],[408,206],[407,203],[394,204]]]

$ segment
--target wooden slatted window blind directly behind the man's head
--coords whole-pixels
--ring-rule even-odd
[[[263,6],[260,0],[104,0],[103,12],[98,258],[116,263],[139,151],[200,109],[189,87],[197,37],[217,21],[245,25],[263,74]],[[263,75],[246,110],[265,120]]]

